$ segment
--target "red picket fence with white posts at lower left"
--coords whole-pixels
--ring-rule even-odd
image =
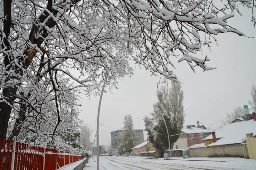
[[[0,138],[0,170],[57,170],[81,159],[81,155]]]

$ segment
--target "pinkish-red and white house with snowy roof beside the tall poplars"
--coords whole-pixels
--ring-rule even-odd
[[[215,131],[206,129],[203,124],[199,124],[199,121],[197,121],[197,127],[188,125],[181,129],[181,134],[174,143],[173,149],[185,149],[195,144],[202,144],[204,143],[203,139],[213,132]]]

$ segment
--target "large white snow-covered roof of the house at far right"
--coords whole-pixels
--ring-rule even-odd
[[[256,135],[256,121],[248,120],[236,123],[230,123],[216,131],[216,138],[221,138],[215,143],[208,146],[227,145],[241,143],[242,138],[246,137],[247,133]],[[204,140],[213,139],[212,135],[205,137]]]

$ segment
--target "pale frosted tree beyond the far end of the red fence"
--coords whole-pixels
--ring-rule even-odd
[[[92,129],[87,124],[82,125],[81,127],[81,136],[80,136],[80,144],[82,146],[82,150],[91,150],[90,137],[91,137]]]

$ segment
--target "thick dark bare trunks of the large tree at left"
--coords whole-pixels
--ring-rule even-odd
[[[79,2],[80,0],[73,0],[70,8],[77,2]],[[11,0],[4,0],[4,33],[5,33],[5,38],[4,38],[4,44],[2,44],[2,49],[5,49],[5,51],[10,50],[10,45],[8,42],[8,38],[9,38],[9,34],[10,34],[10,30],[11,30]],[[60,2],[61,4],[62,2]],[[66,8],[65,10],[68,11],[70,10],[70,8]],[[57,10],[52,9],[52,0],[48,0],[48,4],[47,4],[47,9],[54,15],[56,16],[56,14],[58,13]],[[45,22],[45,19],[49,16],[50,14],[47,11],[44,11],[40,16],[39,16],[39,22],[43,23]],[[53,28],[56,25],[56,22],[53,20],[52,17],[50,17],[46,22],[45,25],[49,28]],[[36,38],[35,35],[37,33],[41,33],[42,37],[40,38]],[[44,42],[44,38],[46,38],[48,36],[48,32],[44,27],[39,27],[38,25],[33,25],[31,32],[29,34],[29,40],[31,43],[36,44],[37,47],[40,48],[41,44]],[[3,37],[3,35],[0,35],[1,39]],[[34,48],[30,48],[28,47],[25,54],[26,54],[26,58],[23,59],[21,58],[18,62],[19,64],[24,68],[27,69],[28,66],[30,65],[31,61],[33,60],[34,56],[36,55],[37,51]],[[11,55],[8,55],[7,53],[4,53],[4,62],[5,62],[5,67],[6,71],[10,70],[12,66],[12,58]],[[15,74],[22,76],[23,75],[23,71],[21,68],[14,66],[14,68],[12,68],[12,70],[15,71]],[[15,77],[8,77],[6,78],[5,82],[11,80],[11,79],[19,79],[19,76],[15,76]],[[12,86],[7,86],[3,89],[2,92],[2,100],[4,99],[5,101],[1,101],[0,102],[0,138],[4,139],[6,138],[6,133],[7,133],[7,127],[8,127],[8,121],[11,115],[11,111],[12,111],[12,106],[14,104],[14,101],[16,99],[16,92],[17,92],[17,86],[16,85],[12,85]],[[26,108],[23,108],[24,110],[21,110],[20,112],[22,112],[23,114],[25,114]],[[24,115],[21,115],[22,117],[20,118],[20,120],[18,120],[17,123],[15,123],[15,126],[19,126],[25,119]],[[11,138],[13,138],[14,136],[17,136],[20,132],[20,128],[19,127],[14,127],[15,131],[14,134],[12,134]]]

